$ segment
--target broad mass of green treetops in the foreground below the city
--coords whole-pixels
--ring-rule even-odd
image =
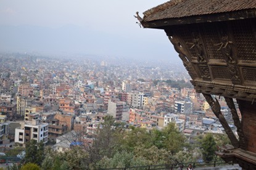
[[[42,169],[124,168],[191,162],[198,157],[194,151],[184,151],[186,137],[173,123],[168,124],[162,131],[148,131],[146,128],[133,126],[126,129],[124,125],[115,121],[112,116],[105,116],[104,123],[92,136],[93,144],[72,147],[64,153],[46,148],[43,153],[45,158],[41,161]],[[40,148],[30,144],[28,148],[31,147]],[[32,151],[28,150],[28,153]]]

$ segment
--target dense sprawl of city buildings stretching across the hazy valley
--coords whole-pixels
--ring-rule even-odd
[[[159,152],[165,148],[165,152],[176,156],[171,159],[172,162],[170,158],[167,161],[162,157],[166,153],[159,153],[157,161],[130,166],[199,161],[204,159],[199,152],[200,147],[196,147],[202,134],[226,137],[209,104],[202,94],[197,94],[192,88],[189,75],[182,65],[133,60],[118,63],[115,58],[104,60],[102,57],[59,59],[30,54],[0,56],[1,152],[7,155],[11,150],[22,153],[31,140],[41,142],[56,154],[75,150],[74,145],[93,148],[101,131],[107,129],[104,118],[113,118],[118,127],[122,124],[123,133],[128,133],[126,135],[130,135],[130,140],[133,139],[130,131],[145,133],[151,140],[151,132],[164,133],[168,127],[175,127],[171,131],[181,135],[176,140],[180,147],[175,146],[175,150],[154,143]],[[231,111],[222,98],[218,100],[229,126],[236,131]],[[109,131],[114,127],[112,125]],[[142,142],[144,149],[155,152],[151,145],[146,147],[145,141],[139,139],[141,134],[138,135],[135,141],[127,143],[133,145],[133,149],[131,146],[130,149],[134,152],[136,145],[141,146]],[[173,138],[170,137],[168,145],[175,144]],[[160,142],[159,139],[156,141]],[[193,153],[188,152],[188,148],[192,148]],[[177,154],[190,154],[190,157],[180,158]],[[95,158],[97,161],[87,161],[86,167],[91,164],[93,167],[99,167],[99,164],[103,168],[118,167],[114,164],[102,165],[104,156],[98,160]],[[79,166],[85,168],[81,164]]]

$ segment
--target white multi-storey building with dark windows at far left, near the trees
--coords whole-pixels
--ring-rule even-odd
[[[21,127],[15,129],[15,142],[25,145],[31,139],[46,144],[48,141],[48,123],[39,123],[38,119],[20,123]]]

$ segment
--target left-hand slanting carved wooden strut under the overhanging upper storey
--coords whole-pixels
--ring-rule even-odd
[[[228,135],[228,138],[231,141],[231,144],[235,148],[238,148],[239,147],[239,142],[236,139],[236,136],[234,136],[233,131],[231,130],[231,128],[228,125],[228,122],[226,121],[225,117],[222,115],[222,113],[220,111],[220,103],[218,103],[217,99],[213,100],[212,95],[210,95],[210,94],[204,94],[203,93],[203,95],[205,97],[205,100],[207,100],[210,107],[212,108],[212,111],[215,114],[215,116],[217,116],[217,118],[220,120],[221,125],[225,129],[225,132],[226,132],[226,134]]]

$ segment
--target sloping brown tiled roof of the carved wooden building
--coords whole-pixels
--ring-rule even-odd
[[[256,0],[171,0],[144,12],[143,22],[256,9]]]

